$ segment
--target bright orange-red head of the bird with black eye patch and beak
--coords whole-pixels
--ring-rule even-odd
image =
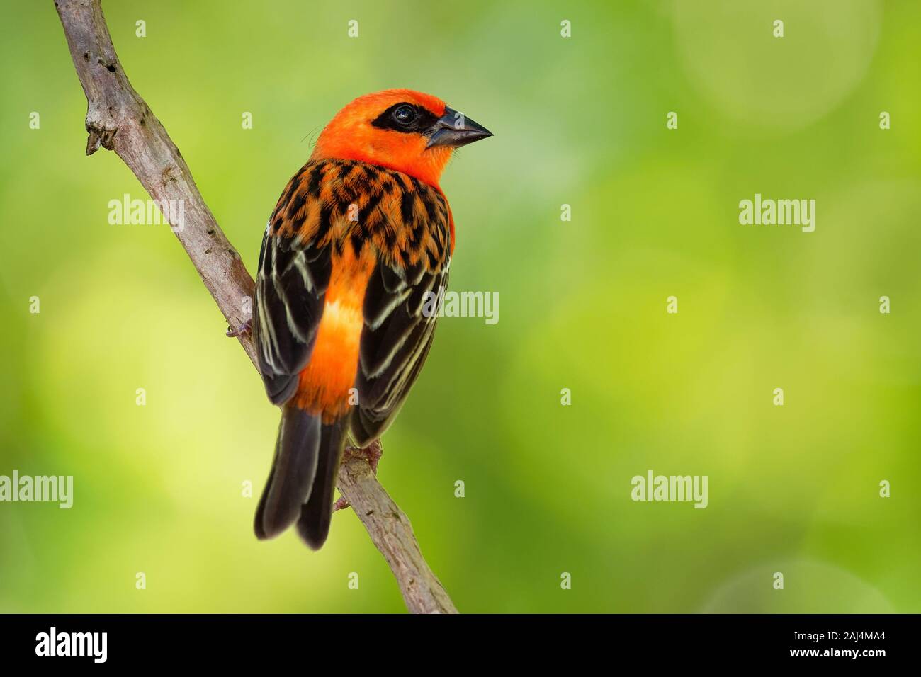
[[[492,135],[437,97],[385,89],[358,97],[336,113],[310,159],[360,160],[437,187],[454,148]]]

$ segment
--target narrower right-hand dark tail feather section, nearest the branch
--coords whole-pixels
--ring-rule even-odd
[[[301,509],[300,519],[297,520],[297,533],[313,550],[320,550],[330,532],[332,496],[336,489],[347,427],[348,416],[329,426],[322,426],[316,479],[307,504]]]

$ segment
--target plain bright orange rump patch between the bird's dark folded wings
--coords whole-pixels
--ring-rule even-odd
[[[295,404],[330,423],[348,411],[349,390],[355,385],[358,345],[364,327],[362,308],[367,280],[374,271],[374,256],[365,247],[356,256],[346,241],[341,256],[333,254],[330,286],[317,341],[310,361],[301,372]]]

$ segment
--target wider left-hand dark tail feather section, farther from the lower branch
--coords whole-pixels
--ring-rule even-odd
[[[272,472],[256,508],[257,538],[274,538],[297,520],[317,473],[317,450],[324,428],[320,416],[290,404],[282,408]]]

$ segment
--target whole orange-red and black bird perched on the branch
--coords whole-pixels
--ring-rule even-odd
[[[297,522],[326,541],[346,443],[391,424],[426,360],[448,285],[454,221],[438,187],[454,148],[491,136],[411,89],[355,99],[323,129],[262,239],[253,335],[281,405],[260,539]]]

